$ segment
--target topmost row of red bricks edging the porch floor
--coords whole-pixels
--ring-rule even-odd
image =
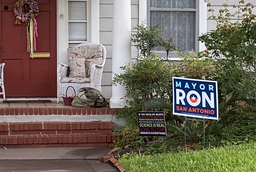
[[[114,108],[0,108],[0,115],[116,115]]]

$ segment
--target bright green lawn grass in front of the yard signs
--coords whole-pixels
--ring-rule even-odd
[[[256,172],[256,142],[237,146],[119,159],[126,172]]]

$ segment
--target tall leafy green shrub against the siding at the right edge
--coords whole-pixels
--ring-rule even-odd
[[[232,77],[234,91],[256,99],[256,15],[252,12],[253,3],[244,0],[239,3],[232,5],[237,9],[235,13],[230,12],[229,5],[223,4],[219,15],[210,17],[216,20],[216,29],[202,35],[199,40],[211,51],[211,57],[218,60],[222,72],[228,74],[227,79]],[[209,12],[214,11],[209,2],[208,7]],[[238,20],[234,22],[232,18]]]

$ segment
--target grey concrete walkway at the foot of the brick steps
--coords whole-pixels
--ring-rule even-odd
[[[101,162],[110,148],[14,148],[0,150],[0,172],[118,172]]]

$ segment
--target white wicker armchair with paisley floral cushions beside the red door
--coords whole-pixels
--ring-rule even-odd
[[[106,61],[104,46],[92,43],[79,44],[74,48],[68,48],[67,58],[69,66],[59,64],[57,68],[57,103],[60,97],[66,96],[68,86],[73,86],[75,90],[91,87],[101,91],[102,72]],[[74,94],[73,89],[67,90],[67,96],[71,94]]]

